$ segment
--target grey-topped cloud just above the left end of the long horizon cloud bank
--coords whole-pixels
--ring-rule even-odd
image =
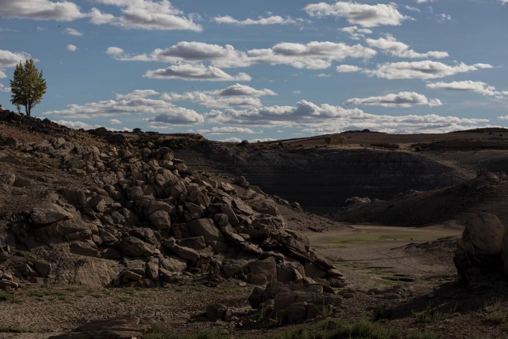
[[[205,107],[226,108],[232,106],[260,107],[259,97],[276,96],[271,89],[255,89],[239,83],[224,89],[209,91],[192,91],[184,94],[164,94],[161,98],[167,101],[192,101]]]

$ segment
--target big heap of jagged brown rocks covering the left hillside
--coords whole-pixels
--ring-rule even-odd
[[[5,220],[9,235],[0,235],[0,249],[30,253],[15,260],[13,251],[2,250],[0,268],[14,275],[4,274],[10,278],[2,281],[10,286],[28,280],[157,287],[189,276],[207,286],[224,279],[270,288],[277,283],[295,302],[306,302],[304,318],[317,314],[309,305],[332,300],[333,287],[344,286],[308,239],[287,228],[277,202],[244,177],[193,171],[167,147],[100,150],[61,137],[3,145],[18,159],[13,166],[43,159],[46,168],[78,179],[48,187],[29,210]],[[13,173],[1,177],[6,187],[21,179]],[[60,261],[52,266],[54,260]],[[269,300],[265,295],[259,302],[268,307]]]

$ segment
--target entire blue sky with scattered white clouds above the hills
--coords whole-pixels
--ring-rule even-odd
[[[0,104],[71,128],[278,140],[508,127],[508,0],[0,0]]]

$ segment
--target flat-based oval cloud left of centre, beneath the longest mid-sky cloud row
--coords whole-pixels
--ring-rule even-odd
[[[250,81],[252,78],[246,73],[230,75],[223,70],[201,64],[174,65],[154,71],[147,71],[144,75],[151,79],[180,79],[187,81]]]

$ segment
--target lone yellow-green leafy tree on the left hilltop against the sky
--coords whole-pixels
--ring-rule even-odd
[[[46,89],[46,80],[42,71],[35,67],[34,60],[26,60],[24,65],[19,61],[11,80],[11,103],[16,107],[24,106],[26,115],[30,116],[31,110],[41,103]]]

